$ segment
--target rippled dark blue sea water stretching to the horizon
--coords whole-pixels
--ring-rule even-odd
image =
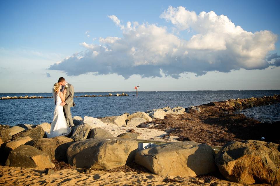
[[[116,94],[117,92],[111,92]],[[118,92],[121,93],[121,92]],[[251,97],[272,96],[280,94],[280,90],[228,90],[228,91],[160,91],[160,92],[125,92],[129,96],[81,97],[74,98],[76,107],[71,108],[72,116],[105,117],[117,116],[124,112],[133,113],[165,106],[184,108],[211,101],[227,99],[243,99]],[[81,95],[106,95],[109,92],[78,92]],[[52,96],[51,93],[13,93],[0,96]],[[41,124],[50,123],[53,119],[53,99],[15,99],[0,100],[0,124]],[[242,110],[246,116],[262,122],[280,120],[280,104],[254,107]]]

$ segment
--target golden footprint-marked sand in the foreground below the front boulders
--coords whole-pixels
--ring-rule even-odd
[[[241,186],[243,184],[228,182],[209,177],[163,177],[148,172],[106,172],[92,170],[89,173],[83,169],[62,169],[53,174],[46,174],[45,169],[0,166],[0,185],[216,185]],[[266,186],[267,184],[262,184]],[[256,186],[256,185],[255,185]]]

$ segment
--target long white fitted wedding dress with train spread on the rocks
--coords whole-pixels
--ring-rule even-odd
[[[63,107],[59,105],[62,102],[59,94],[55,94],[55,100],[56,104],[55,111],[53,113],[53,122],[50,128],[50,134],[47,134],[48,138],[66,135],[71,131],[66,122]]]

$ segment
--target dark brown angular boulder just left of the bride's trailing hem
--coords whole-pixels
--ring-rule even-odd
[[[26,130],[26,131],[22,131],[22,132],[20,132],[16,135],[14,135],[12,140],[16,140],[20,137],[26,137],[26,136],[31,137],[33,140],[38,140],[40,138],[47,137],[43,128],[38,126],[38,127],[29,129],[29,130]]]

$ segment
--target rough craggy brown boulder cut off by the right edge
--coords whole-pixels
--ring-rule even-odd
[[[280,145],[256,140],[228,142],[215,162],[227,180],[243,183],[280,184]]]

